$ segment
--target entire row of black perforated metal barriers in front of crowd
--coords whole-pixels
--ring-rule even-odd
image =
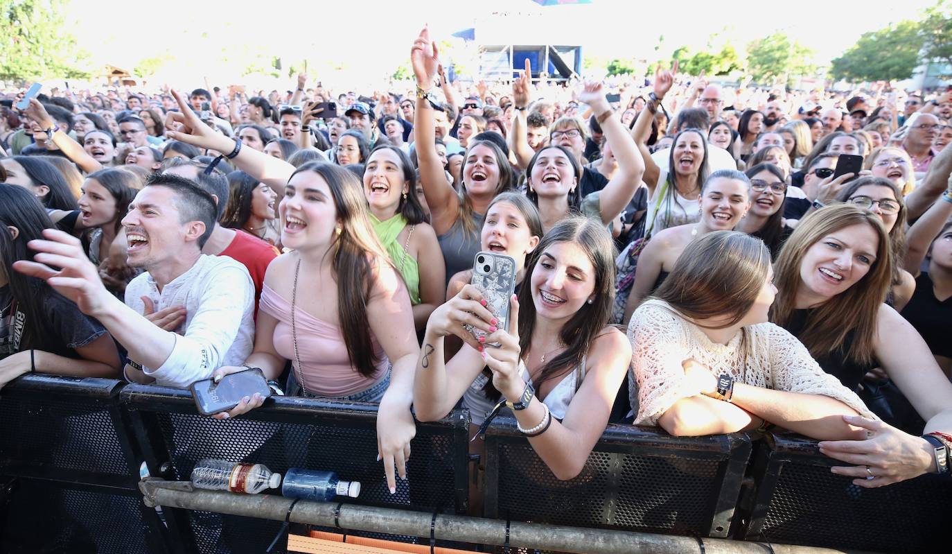
[[[0,391],[0,551],[262,552],[279,522],[142,502],[140,465],[188,480],[202,458],[337,471],[347,504],[466,513],[465,411],[419,423],[408,480],[390,495],[376,407],[277,398],[212,420],[187,391],[103,379],[20,378]],[[675,438],[609,425],[585,469],[560,482],[511,419],[486,434],[485,515],[512,522],[869,550],[922,550],[952,524],[952,483],[924,476],[861,489],[803,438]],[[748,458],[750,462],[748,463]],[[439,538],[439,537],[438,537]],[[407,537],[407,540],[411,538]],[[281,543],[272,552],[284,551]]]

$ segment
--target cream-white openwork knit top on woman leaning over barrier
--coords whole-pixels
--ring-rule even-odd
[[[688,359],[715,368],[717,373],[729,373],[738,383],[823,394],[864,417],[878,419],[854,392],[824,372],[806,346],[785,329],[770,323],[744,329],[749,342],[746,356],[741,347],[744,333],[719,345],[660,300],[648,300],[638,307],[628,325],[631,366],[638,384],[630,399],[638,414],[635,424],[657,425],[658,418],[675,402],[695,394],[684,378],[682,363]]]

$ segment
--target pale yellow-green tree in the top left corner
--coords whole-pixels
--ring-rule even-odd
[[[65,0],[0,0],[0,79],[88,78],[63,20]]]

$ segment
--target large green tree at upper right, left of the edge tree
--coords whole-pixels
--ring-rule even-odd
[[[901,21],[881,30],[864,32],[860,40],[832,62],[835,79],[891,81],[908,79],[919,65],[920,26]]]

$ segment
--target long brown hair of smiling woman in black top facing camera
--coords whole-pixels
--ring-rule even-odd
[[[797,338],[814,358],[842,349],[847,335],[854,332],[852,345],[844,352],[847,359],[859,364],[872,362],[877,315],[891,281],[893,266],[883,221],[872,211],[850,204],[820,208],[800,221],[783,245],[774,266],[778,296],[770,307],[770,321],[787,326],[796,309],[797,291],[803,285],[800,267],[806,251],[832,232],[863,224],[873,228],[879,239],[876,261],[852,287],[810,310],[803,333]]]

